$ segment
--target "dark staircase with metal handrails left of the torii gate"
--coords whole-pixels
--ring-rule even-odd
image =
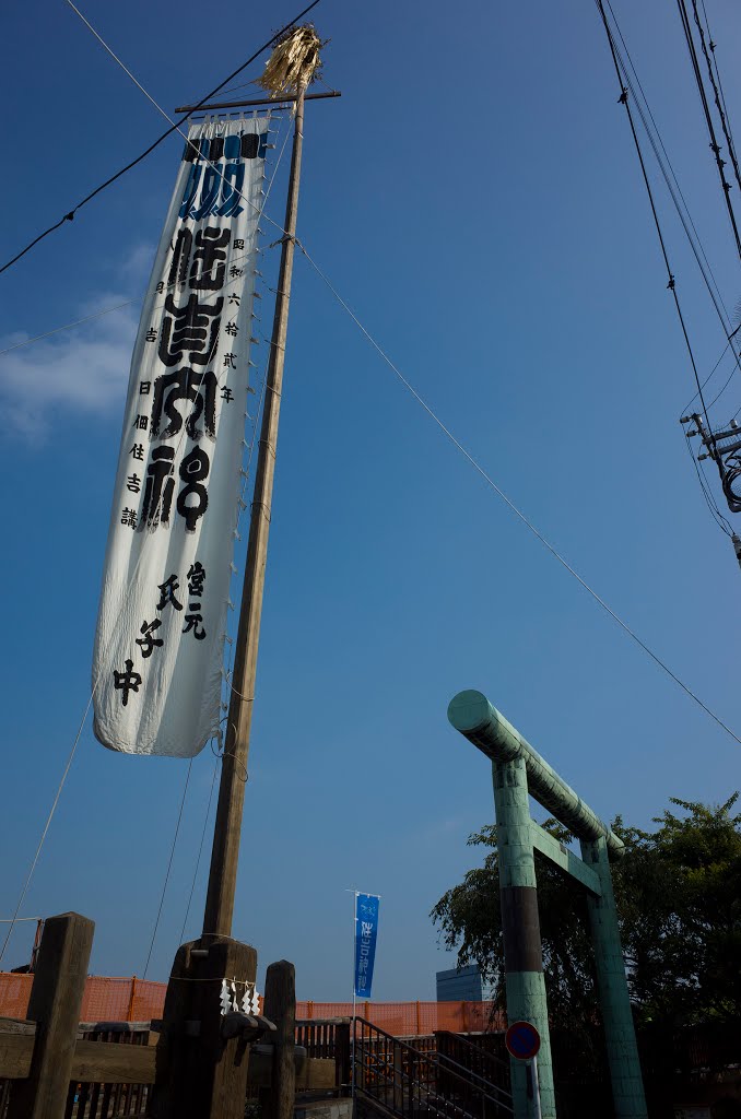
[[[355,1018],[353,1053],[360,1111],[379,1112],[385,1119],[514,1115],[508,1066],[457,1034],[445,1034],[437,1052],[422,1053],[365,1018]]]

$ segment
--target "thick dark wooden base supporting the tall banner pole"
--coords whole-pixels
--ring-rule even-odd
[[[250,1046],[222,1036],[222,980],[237,980],[241,997],[256,968],[254,948],[229,937],[180,946],[157,1045],[153,1119],[243,1119]]]

